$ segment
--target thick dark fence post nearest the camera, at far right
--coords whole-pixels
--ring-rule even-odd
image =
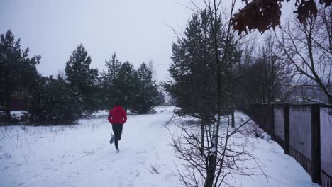
[[[321,119],[319,103],[311,103],[311,179],[321,184]]]

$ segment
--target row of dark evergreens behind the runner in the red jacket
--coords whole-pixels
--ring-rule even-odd
[[[65,65],[65,72],[45,77],[36,66],[39,55],[29,57],[11,30],[0,40],[0,121],[11,122],[11,97],[24,96],[31,124],[72,124],[98,110],[110,109],[115,101],[137,113],[149,113],[164,102],[153,79],[152,66],[142,63],[135,69],[121,62],[114,52],[105,60],[106,71],[90,67],[92,58],[78,45]]]

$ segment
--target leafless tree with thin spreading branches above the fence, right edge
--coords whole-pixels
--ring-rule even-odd
[[[321,89],[329,103],[332,103],[331,9],[320,7],[319,16],[309,17],[306,26],[297,19],[288,21],[278,38],[282,60],[292,64],[297,74],[309,80],[302,86]]]

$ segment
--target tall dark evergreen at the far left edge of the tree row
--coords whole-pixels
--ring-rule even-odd
[[[4,103],[7,121],[11,120],[11,96],[27,93],[38,77],[36,65],[40,56],[29,58],[29,49],[21,49],[21,40],[15,40],[11,30],[0,35],[0,103]]]

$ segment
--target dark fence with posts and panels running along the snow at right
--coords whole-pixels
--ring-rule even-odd
[[[310,174],[314,183],[332,187],[331,106],[252,104],[245,111]]]

